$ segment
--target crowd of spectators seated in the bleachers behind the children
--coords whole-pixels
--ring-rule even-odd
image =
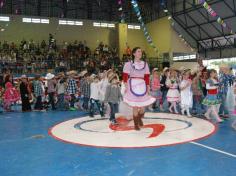
[[[31,74],[55,73],[68,70],[81,71],[84,68],[91,73],[119,67],[120,59],[116,48],[103,42],[94,51],[86,41],[66,42],[57,44],[53,35],[49,40],[35,42],[23,39],[20,44],[0,42],[0,73]]]

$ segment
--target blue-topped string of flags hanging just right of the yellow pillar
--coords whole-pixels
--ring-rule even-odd
[[[144,32],[144,36],[145,36],[146,39],[147,39],[147,42],[148,42],[149,45],[154,49],[154,51],[155,51],[156,53],[158,53],[158,48],[157,48],[156,45],[153,43],[153,40],[152,40],[152,38],[151,38],[151,36],[150,36],[150,34],[149,34],[148,30],[147,30],[147,27],[146,27],[146,25],[145,25],[145,23],[144,23],[144,21],[143,21],[143,18],[142,18],[142,15],[141,15],[141,11],[140,11],[140,8],[139,8],[139,5],[138,5],[137,1],[136,1],[136,0],[131,0],[131,4],[132,4],[132,6],[133,6],[134,12],[136,13],[136,16],[137,16],[137,18],[138,18],[138,21],[139,21],[140,24],[141,24],[141,27],[142,27],[142,30],[143,30],[143,32]]]

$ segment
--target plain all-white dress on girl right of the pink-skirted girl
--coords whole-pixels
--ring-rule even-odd
[[[188,80],[182,80],[180,83],[180,89],[188,84]],[[191,84],[184,90],[180,91],[181,107],[189,109],[193,106],[193,93],[191,90]]]

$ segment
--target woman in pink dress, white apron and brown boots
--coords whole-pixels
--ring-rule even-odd
[[[155,98],[149,96],[149,66],[142,61],[142,50],[135,47],[132,50],[132,60],[126,62],[123,68],[123,81],[126,92],[123,97],[125,103],[133,108],[133,120],[135,130],[143,126],[145,107],[155,102]]]

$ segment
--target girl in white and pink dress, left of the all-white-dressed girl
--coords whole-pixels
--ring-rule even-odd
[[[176,70],[172,70],[170,72],[170,76],[166,80],[166,85],[169,87],[167,92],[167,101],[171,104],[169,111],[173,113],[172,108],[174,108],[174,112],[178,114],[177,103],[180,101],[180,94],[178,90],[178,78]]]

